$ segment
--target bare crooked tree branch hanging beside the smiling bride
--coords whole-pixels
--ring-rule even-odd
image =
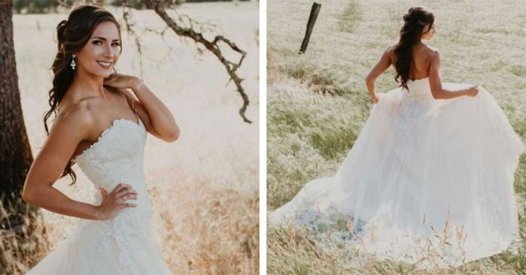
[[[202,32],[196,32],[196,30],[192,28],[194,24],[194,20],[189,20],[189,23],[192,27],[181,27],[180,25],[177,24],[177,22],[175,22],[175,20],[173,20],[173,18],[170,18],[170,15],[168,15],[168,13],[166,13],[166,9],[165,9],[166,2],[165,1],[146,0],[146,6],[154,10],[157,13],[157,15],[159,15],[161,19],[163,19],[166,25],[168,25],[170,29],[173,29],[175,34],[179,36],[189,37],[193,39],[196,44],[201,44],[205,46],[205,48],[208,51],[212,52],[217,57],[217,59],[219,59],[220,62],[222,62],[222,64],[224,65],[225,69],[227,69],[227,72],[230,76],[230,79],[227,82],[227,85],[228,83],[230,83],[230,81],[234,81],[234,83],[236,84],[238,93],[241,95],[241,98],[243,98],[243,107],[239,109],[239,114],[243,118],[243,121],[247,123],[252,123],[252,121],[248,120],[245,116],[245,111],[247,109],[249,101],[248,101],[248,96],[246,95],[245,90],[243,89],[243,86],[241,86],[241,81],[243,81],[243,79],[241,79],[236,73],[236,70],[241,66],[241,63],[243,62],[243,59],[245,58],[246,52],[241,50],[241,48],[238,48],[238,46],[236,46],[234,42],[230,41],[229,39],[227,39],[226,37],[222,35],[215,36],[213,41],[209,41],[205,39]],[[229,46],[233,51],[240,53],[241,54],[240,60],[238,62],[231,62],[230,60],[227,60],[227,58],[224,58],[221,52],[220,46],[218,44],[220,42],[226,43],[227,46]]]

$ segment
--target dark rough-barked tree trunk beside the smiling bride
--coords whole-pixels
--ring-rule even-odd
[[[22,187],[33,162],[25,130],[13,43],[13,2],[0,0],[0,229],[18,231],[27,215]],[[6,216],[7,213],[7,216]]]

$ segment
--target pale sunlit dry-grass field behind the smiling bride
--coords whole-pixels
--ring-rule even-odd
[[[121,21],[123,53],[117,71],[141,76],[168,106],[181,128],[180,139],[163,142],[149,135],[144,169],[151,203],[154,241],[174,274],[257,274],[259,272],[259,3],[183,4],[180,14],[210,21],[247,52],[238,70],[250,99],[244,123],[241,97],[217,58],[198,54],[195,43],[171,29],[165,41],[147,32],[140,37],[142,56],[126,33],[122,8],[109,7]],[[162,31],[153,11],[132,11],[135,25]],[[33,155],[46,139],[43,113],[48,110],[50,66],[57,51],[55,28],[67,14],[14,15],[15,53],[22,111]],[[138,33],[141,30],[138,29]],[[171,50],[170,48],[171,47]],[[225,49],[227,49],[225,47]],[[229,53],[229,58],[236,58]],[[234,59],[236,60],[236,59]],[[53,118],[53,116],[51,117]],[[51,120],[50,120],[51,121]],[[50,122],[49,121],[49,122]],[[48,123],[51,125],[51,123]],[[98,192],[78,166],[76,185],[69,177],[54,186],[78,201]],[[43,229],[33,242],[47,239],[47,250],[18,240],[1,248],[9,266],[0,273],[23,274],[74,231],[79,219],[41,209]],[[12,246],[24,246],[14,255]]]

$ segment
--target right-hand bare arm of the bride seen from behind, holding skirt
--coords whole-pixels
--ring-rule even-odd
[[[442,87],[442,79],[440,77],[440,52],[438,50],[433,53],[433,57],[431,58],[431,65],[429,66],[429,86],[431,86],[431,94],[436,100],[458,98],[463,95],[475,96],[478,93],[476,86],[462,90],[447,90]]]

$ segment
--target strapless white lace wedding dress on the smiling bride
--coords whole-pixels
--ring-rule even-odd
[[[137,116],[137,114],[135,114]],[[94,205],[102,203],[99,188],[109,194],[123,182],[137,192],[131,203],[111,220],[80,219],[76,231],[27,274],[172,274],[151,239],[154,212],[144,177],[147,131],[138,123],[115,119],[97,142],[76,156],[83,173],[97,187]]]

